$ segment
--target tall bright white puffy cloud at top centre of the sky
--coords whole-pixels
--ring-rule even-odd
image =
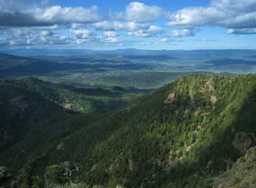
[[[126,6],[125,13],[117,13],[117,19],[127,21],[147,22],[156,21],[166,12],[158,6],[148,6],[144,3],[131,2]]]

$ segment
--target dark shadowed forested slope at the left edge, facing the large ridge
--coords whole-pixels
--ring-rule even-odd
[[[39,93],[0,82],[0,150],[19,142],[29,130],[63,108],[45,100]]]

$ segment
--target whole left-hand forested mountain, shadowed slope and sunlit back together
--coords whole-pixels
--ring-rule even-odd
[[[35,78],[0,81],[0,150],[20,142],[51,118],[75,113],[102,113],[135,96],[104,89],[77,89]]]

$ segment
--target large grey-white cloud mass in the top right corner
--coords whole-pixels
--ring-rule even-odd
[[[213,0],[209,7],[188,7],[171,13],[165,26],[180,28],[221,26],[240,29],[241,32],[245,30],[244,34],[247,30],[251,33],[251,28],[256,28],[256,1]],[[234,32],[231,31],[228,30],[227,33],[233,34]]]

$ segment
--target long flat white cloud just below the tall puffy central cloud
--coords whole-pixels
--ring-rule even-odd
[[[129,32],[149,28],[148,23],[137,23],[135,21],[99,21],[92,26],[97,30],[126,30]]]

